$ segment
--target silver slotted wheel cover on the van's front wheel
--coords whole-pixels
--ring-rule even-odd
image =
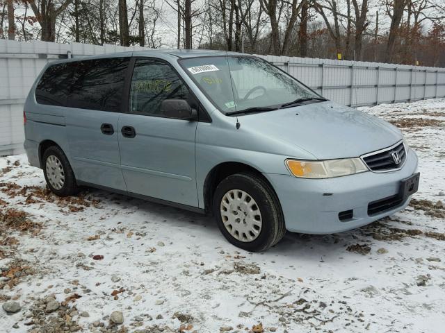
[[[257,202],[241,189],[231,189],[221,199],[221,219],[229,234],[245,243],[254,241],[263,220]]]

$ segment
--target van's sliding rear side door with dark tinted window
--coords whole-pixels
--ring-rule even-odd
[[[77,180],[125,191],[118,119],[130,58],[72,62],[65,110],[67,139]]]

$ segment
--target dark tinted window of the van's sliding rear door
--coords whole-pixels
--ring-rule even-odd
[[[128,62],[129,58],[72,62],[67,106],[119,112]]]

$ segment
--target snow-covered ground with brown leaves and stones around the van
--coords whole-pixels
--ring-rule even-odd
[[[362,110],[419,154],[412,205],[349,232],[288,232],[266,253],[191,212],[57,198],[26,156],[0,158],[0,303],[22,308],[0,309],[1,332],[444,332],[445,100]]]

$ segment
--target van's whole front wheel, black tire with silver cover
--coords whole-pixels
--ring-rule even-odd
[[[275,192],[254,173],[236,173],[222,180],[213,195],[213,214],[224,237],[243,250],[267,250],[286,233]]]

